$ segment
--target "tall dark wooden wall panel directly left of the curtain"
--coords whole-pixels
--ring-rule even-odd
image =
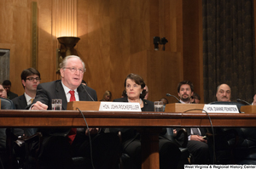
[[[183,71],[184,80],[193,82],[195,93],[203,97],[200,3],[201,0],[183,1]]]

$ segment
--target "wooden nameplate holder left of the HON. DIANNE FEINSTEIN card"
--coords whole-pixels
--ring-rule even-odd
[[[184,111],[188,111],[189,113],[196,112],[202,113],[202,109],[204,108],[205,104],[166,104],[165,112],[179,112],[183,113]],[[194,109],[201,109],[201,110],[194,110]]]

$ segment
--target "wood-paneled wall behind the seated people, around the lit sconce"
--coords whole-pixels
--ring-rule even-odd
[[[38,70],[42,82],[50,82],[59,77],[55,74],[56,37],[52,33],[55,24],[52,20],[54,0],[33,1],[38,3]],[[23,93],[20,73],[31,66],[31,3],[32,0],[0,0],[0,24],[4,25],[0,48],[11,48],[10,81],[13,82],[13,92],[19,95]],[[86,65],[84,80],[96,89],[98,99],[102,99],[106,90],[113,93],[113,99],[119,98],[125,77],[136,71],[133,65],[140,69],[148,62],[148,59],[134,56],[145,53],[160,60],[154,65],[154,59],[150,59],[150,66],[154,66],[140,71],[142,75],[147,75],[144,78],[151,94],[149,100],[158,100],[166,93],[177,95],[177,82],[188,75],[193,79],[191,81],[195,83],[196,90],[200,91],[198,93],[202,94],[201,68],[186,63],[195,55],[196,63],[201,59],[198,16],[201,0],[194,3],[189,7],[188,0],[77,0],[77,36],[81,40],[76,50]],[[184,14],[186,11],[189,14],[197,11],[192,15],[195,20],[190,20],[189,15]],[[194,28],[189,30],[192,25]],[[190,37],[184,31],[195,32],[190,43],[187,43]],[[154,51],[153,37],[166,37],[166,54]],[[189,47],[193,41],[195,45]],[[186,51],[185,47],[188,48]],[[187,52],[189,48],[193,48],[192,55]],[[161,57],[162,54],[164,57]],[[168,64],[174,56],[177,63]],[[162,62],[165,60],[166,63]],[[190,76],[189,68],[192,67],[195,74]],[[159,75],[162,78],[156,81],[155,76]],[[174,99],[169,101],[175,102]]]

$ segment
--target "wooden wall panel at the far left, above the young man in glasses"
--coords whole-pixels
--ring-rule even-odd
[[[31,65],[30,5],[27,1],[0,1],[0,48],[10,49],[9,80],[14,93],[23,93],[20,73]]]

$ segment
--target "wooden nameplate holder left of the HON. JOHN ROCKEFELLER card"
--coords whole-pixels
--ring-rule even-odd
[[[92,101],[73,101],[67,103],[67,110],[94,110],[98,111],[100,109],[101,102],[92,102]]]

